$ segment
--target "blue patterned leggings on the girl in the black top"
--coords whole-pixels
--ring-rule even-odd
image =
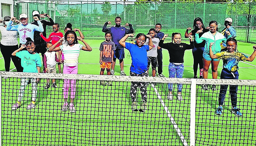
[[[177,78],[182,78],[184,72],[184,64],[175,65],[173,63],[169,64],[169,77],[175,78],[175,75]],[[181,92],[182,90],[182,84],[178,83],[178,92]],[[169,91],[172,91],[172,83],[168,83],[168,89]]]

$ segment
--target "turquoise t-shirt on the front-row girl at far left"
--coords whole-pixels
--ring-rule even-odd
[[[16,56],[21,59],[23,72],[38,72],[37,66],[42,66],[40,55],[38,53],[30,54],[28,51],[23,50],[17,52]]]

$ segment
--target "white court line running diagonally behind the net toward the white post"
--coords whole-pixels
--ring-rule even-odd
[[[154,88],[154,90],[155,90],[155,92],[156,92],[156,94],[157,94],[157,97],[158,97],[158,99],[160,100],[162,106],[164,107],[165,112],[167,113],[168,117],[170,118],[173,127],[175,128],[175,130],[177,131],[178,135],[180,136],[180,140],[182,141],[183,145],[184,145],[184,146],[188,146],[188,143],[186,142],[186,140],[185,140],[183,134],[181,133],[180,128],[178,127],[178,125],[177,125],[176,122],[174,121],[174,119],[173,119],[173,117],[172,117],[170,111],[168,110],[168,107],[165,105],[165,103],[164,103],[163,99],[161,98],[161,96],[159,95],[159,93],[158,93],[156,87],[155,87],[152,83],[151,83],[151,85],[152,85],[152,87]]]

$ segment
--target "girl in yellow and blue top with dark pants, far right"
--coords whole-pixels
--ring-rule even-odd
[[[254,52],[250,57],[244,55],[240,52],[235,52],[237,48],[237,40],[233,37],[227,39],[227,51],[222,51],[216,53],[215,55],[212,52],[212,45],[209,46],[209,55],[212,59],[222,59],[223,60],[223,69],[220,74],[220,79],[238,79],[238,62],[239,61],[253,61],[256,56],[256,46],[253,46]],[[229,92],[232,104],[232,113],[236,116],[242,116],[240,109],[237,107],[237,85],[230,85]],[[219,94],[219,107],[217,108],[216,114],[222,115],[223,104],[225,95],[227,93],[228,85],[220,85],[220,94]]]

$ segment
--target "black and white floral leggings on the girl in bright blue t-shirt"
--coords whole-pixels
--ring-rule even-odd
[[[140,77],[147,77],[148,73],[144,72],[142,74],[136,74],[134,72],[130,72],[131,76],[140,76]],[[141,90],[141,98],[143,102],[147,102],[147,83],[146,82],[131,82],[131,101],[134,102],[136,101],[136,93],[137,93],[137,88],[140,88]]]

